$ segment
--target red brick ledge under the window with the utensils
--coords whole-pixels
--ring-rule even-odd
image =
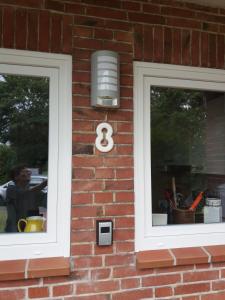
[[[138,269],[225,262],[225,245],[140,251],[136,262]]]

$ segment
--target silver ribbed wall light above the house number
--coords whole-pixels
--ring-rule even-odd
[[[119,55],[113,51],[96,51],[91,57],[91,105],[120,106]]]

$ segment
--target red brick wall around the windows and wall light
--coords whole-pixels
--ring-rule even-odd
[[[134,60],[224,68],[225,10],[175,0],[1,0],[0,46],[73,55],[73,188],[70,277],[0,283],[0,299],[225,298],[225,264],[138,271],[134,255]],[[90,106],[90,55],[121,59],[121,108]],[[94,147],[114,128],[114,149]],[[95,221],[114,221],[112,247],[95,244]]]

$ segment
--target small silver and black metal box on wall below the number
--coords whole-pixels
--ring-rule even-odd
[[[110,246],[113,242],[112,220],[96,221],[96,239],[98,246]]]

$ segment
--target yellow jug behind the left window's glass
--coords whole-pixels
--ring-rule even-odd
[[[24,230],[21,229],[21,223],[25,223]],[[26,219],[20,219],[17,223],[19,232],[42,232],[44,231],[45,218],[34,216]]]

